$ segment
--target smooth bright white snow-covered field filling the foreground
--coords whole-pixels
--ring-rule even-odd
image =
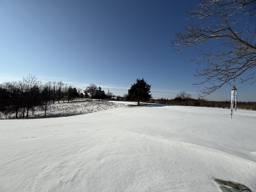
[[[152,104],[0,120],[0,192],[222,192],[212,178],[256,192],[256,111]]]

